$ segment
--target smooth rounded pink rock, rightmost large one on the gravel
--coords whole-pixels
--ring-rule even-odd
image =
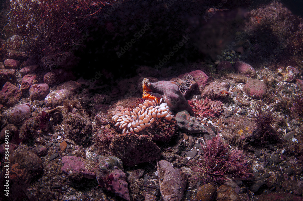
[[[260,80],[251,80],[244,85],[244,91],[248,96],[260,99],[261,95],[266,94],[267,87],[264,82]]]

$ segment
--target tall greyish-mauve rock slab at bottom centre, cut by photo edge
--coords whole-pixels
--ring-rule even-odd
[[[158,162],[158,174],[161,196],[164,201],[180,201],[183,197],[187,177],[180,169],[174,169],[170,162]]]

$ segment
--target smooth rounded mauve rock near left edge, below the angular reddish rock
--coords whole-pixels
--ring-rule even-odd
[[[8,121],[12,124],[22,124],[23,121],[27,120],[31,116],[31,105],[24,103],[11,107],[6,111]]]

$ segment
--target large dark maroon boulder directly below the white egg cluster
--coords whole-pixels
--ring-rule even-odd
[[[146,135],[126,133],[116,135],[109,146],[110,151],[120,158],[126,166],[151,162],[160,158],[160,149]]]

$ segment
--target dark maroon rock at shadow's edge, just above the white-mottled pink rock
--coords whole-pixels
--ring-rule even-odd
[[[43,81],[49,86],[54,86],[55,84],[62,83],[67,80],[74,80],[75,76],[71,71],[65,71],[64,69],[56,69],[54,71],[48,72],[44,75]]]

